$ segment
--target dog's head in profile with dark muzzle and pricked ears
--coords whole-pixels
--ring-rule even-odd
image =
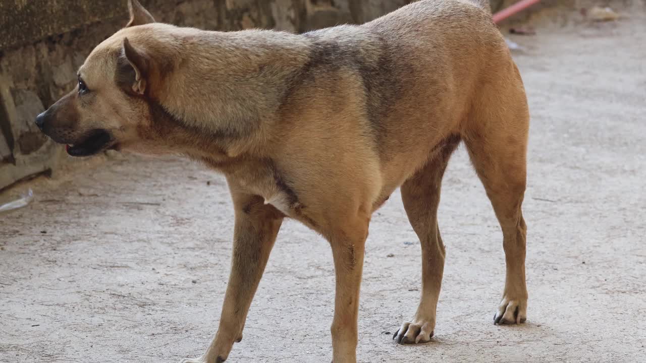
[[[71,156],[107,149],[154,153],[154,147],[141,144],[152,141],[145,140],[154,118],[149,97],[162,70],[149,57],[148,45],[136,42],[151,39],[156,26],[169,25],[152,24],[151,14],[136,0],[129,1],[129,8],[127,26],[94,48],[79,68],[77,87],[36,118],[45,134],[67,144]]]

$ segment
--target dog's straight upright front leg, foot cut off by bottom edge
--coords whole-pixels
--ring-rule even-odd
[[[357,362],[359,289],[367,236],[368,222],[357,222],[330,238],[337,276],[331,327],[333,363]]]

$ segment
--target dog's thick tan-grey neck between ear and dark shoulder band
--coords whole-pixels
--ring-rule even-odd
[[[307,39],[263,30],[174,32],[177,43],[165,55],[174,66],[154,91],[154,117],[170,122],[163,127],[182,126],[172,137],[193,158],[207,152],[220,162],[261,148],[307,63]]]

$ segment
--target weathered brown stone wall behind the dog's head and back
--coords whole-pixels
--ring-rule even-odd
[[[158,21],[304,32],[362,23],[410,0],[141,0]],[[126,0],[0,1],[0,189],[66,160],[34,125],[74,88],[90,50],[127,23]]]

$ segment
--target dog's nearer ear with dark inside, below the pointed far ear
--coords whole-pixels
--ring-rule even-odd
[[[127,37],[123,38],[122,48],[117,83],[127,92],[143,95],[146,92],[150,59],[144,52],[133,47]]]

